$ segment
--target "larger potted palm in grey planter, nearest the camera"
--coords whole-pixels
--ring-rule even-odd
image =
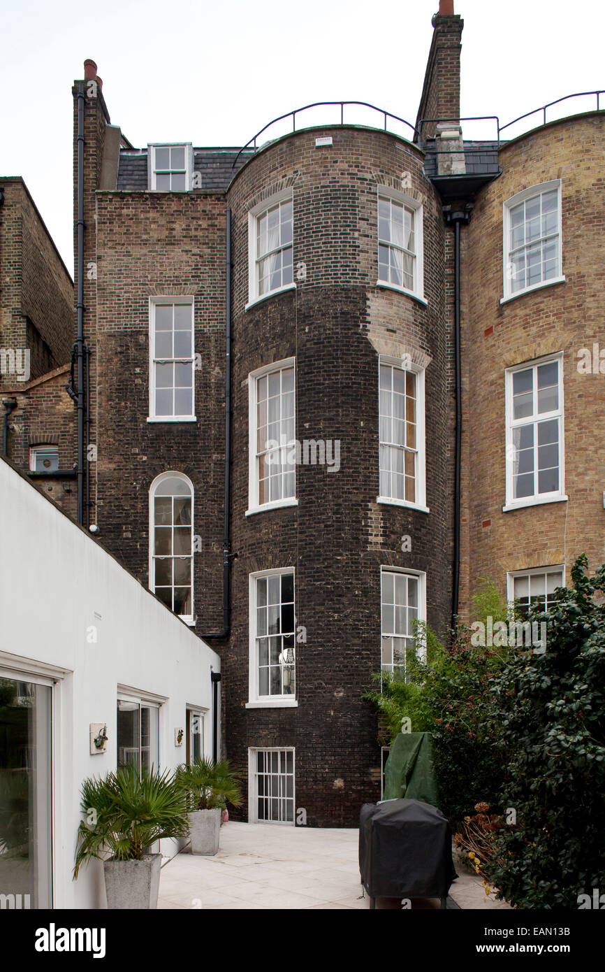
[[[130,764],[85,780],[81,806],[74,879],[85,861],[101,858],[108,908],[156,908],[161,854],[149,849],[188,833],[185,794],[170,771]]]

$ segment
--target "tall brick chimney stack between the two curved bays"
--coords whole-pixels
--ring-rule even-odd
[[[464,21],[454,14],[454,0],[439,0],[432,19],[433,39],[428,53],[420,98],[417,128],[421,119],[458,121],[460,118],[460,48]],[[435,123],[422,125],[420,140],[435,135]],[[419,136],[416,136],[419,141]]]

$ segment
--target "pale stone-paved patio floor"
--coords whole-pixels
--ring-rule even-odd
[[[162,867],[158,908],[187,909],[369,909],[359,883],[356,829],[318,829],[271,823],[236,823],[220,828],[215,857],[188,849]],[[508,908],[485,902],[479,879],[460,875],[448,908]],[[413,901],[412,908],[439,908],[438,900]],[[377,908],[397,908],[378,899]]]

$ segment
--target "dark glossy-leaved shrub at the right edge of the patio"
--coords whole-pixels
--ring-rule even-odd
[[[501,803],[517,826],[497,839],[490,872],[499,896],[520,908],[578,908],[605,891],[605,565],[588,576],[582,555],[573,587],[559,588],[543,654],[515,651],[492,686],[509,777]]]

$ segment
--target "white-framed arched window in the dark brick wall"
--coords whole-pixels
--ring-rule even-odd
[[[151,483],[150,588],[192,623],[193,486],[181,472],[162,472]]]

